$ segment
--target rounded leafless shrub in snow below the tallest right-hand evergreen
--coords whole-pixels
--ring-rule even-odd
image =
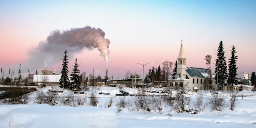
[[[217,95],[216,93],[212,94],[209,97],[209,104],[212,110],[221,111],[222,108],[225,106],[224,96]]]

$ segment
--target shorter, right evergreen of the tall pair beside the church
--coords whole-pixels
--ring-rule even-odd
[[[236,60],[237,60],[238,56],[236,56],[235,48],[236,48],[235,46],[232,47],[231,57],[229,59],[229,64],[228,64],[228,70],[229,70],[229,72],[228,72],[228,84],[232,84],[232,88],[233,88],[233,84],[237,83],[237,78],[236,78],[236,70],[237,70]]]

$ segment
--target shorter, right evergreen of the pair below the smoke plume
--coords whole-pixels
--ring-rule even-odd
[[[80,70],[78,69],[78,64],[77,64],[77,59],[75,60],[75,65],[73,66],[72,74],[71,76],[71,85],[70,89],[71,90],[81,90],[81,76],[79,76]]]

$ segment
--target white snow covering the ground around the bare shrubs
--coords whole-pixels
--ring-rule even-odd
[[[38,90],[47,92],[49,89],[56,88],[46,87]],[[78,107],[63,106],[61,103],[58,103],[58,106],[36,104],[36,92],[31,92],[28,96],[28,104],[0,104],[0,128],[256,128],[256,92],[240,91],[238,103],[233,111],[229,109],[229,94],[219,92],[220,95],[224,95],[226,106],[222,111],[212,111],[210,105],[206,103],[210,93],[202,91],[206,107],[199,114],[190,114],[188,112],[177,113],[164,101],[161,111],[154,109],[151,112],[137,111],[132,103],[134,96],[125,96],[126,100],[130,101],[130,105],[120,108],[117,102],[124,96],[115,96],[115,94],[120,94],[119,90],[116,87],[91,88],[90,93],[95,92],[98,97],[99,103],[96,107],[90,106],[89,92],[76,94],[87,96],[84,105]],[[123,90],[130,94],[136,94],[138,91],[132,88]],[[148,90],[161,92],[163,88],[149,88]],[[99,92],[110,93],[110,95],[98,94]],[[156,92],[148,92],[148,94],[160,94]],[[64,90],[59,93],[59,96],[68,96],[70,93],[74,92]],[[196,92],[191,92],[189,96],[191,97],[190,103],[193,104]],[[113,103],[108,108],[106,102],[110,97],[113,97]]]

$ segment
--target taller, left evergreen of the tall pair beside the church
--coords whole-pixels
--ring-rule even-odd
[[[226,57],[224,56],[224,48],[223,48],[223,43],[220,41],[220,45],[218,48],[218,54],[217,54],[217,59],[216,59],[216,68],[215,68],[215,80],[217,82],[217,74],[218,74],[218,85],[224,86],[225,79],[228,77],[227,73],[227,62],[226,62]],[[218,72],[217,72],[218,71]],[[217,88],[218,89],[218,88]]]

